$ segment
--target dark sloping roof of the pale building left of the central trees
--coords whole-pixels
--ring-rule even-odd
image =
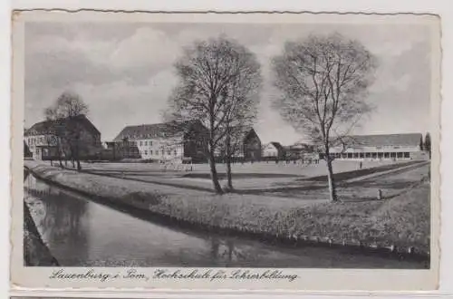
[[[113,141],[128,139],[146,138],[169,138],[180,135],[192,128],[194,125],[202,125],[201,121],[169,121],[153,124],[142,124],[137,126],[127,126],[120,131]]]

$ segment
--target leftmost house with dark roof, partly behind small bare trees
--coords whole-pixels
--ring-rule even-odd
[[[67,141],[59,135],[67,128],[77,128],[79,134],[79,158],[90,159],[101,149],[101,132],[96,129],[85,115],[66,118],[61,121],[41,121],[24,132],[24,142],[32,153],[33,159],[57,159],[60,150],[63,159],[71,156]]]

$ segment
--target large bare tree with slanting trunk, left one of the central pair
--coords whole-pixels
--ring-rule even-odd
[[[177,119],[198,119],[207,128],[207,160],[217,193],[223,193],[217,178],[215,152],[226,136],[226,119],[239,115],[230,112],[233,88],[241,73],[259,76],[255,55],[225,36],[197,41],[184,49],[175,64],[179,82],[169,99],[171,114]],[[235,83],[236,82],[236,83]],[[245,96],[247,92],[237,92]],[[233,111],[236,111],[233,110]]]

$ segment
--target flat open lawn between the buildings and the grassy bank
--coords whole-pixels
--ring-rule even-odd
[[[414,161],[365,161],[362,169],[358,169],[358,161],[334,161],[334,172],[337,177],[346,179],[354,178],[358,174],[369,174],[374,171],[399,168]],[[159,164],[146,163],[84,163],[83,171],[111,176],[114,178],[126,178],[156,184],[212,190],[212,181],[206,164],[194,165],[194,170],[186,171],[164,171],[159,169]],[[217,164],[218,176],[221,185],[226,185],[225,165]],[[222,170],[223,169],[223,170]],[[282,163],[245,163],[233,165],[233,185],[237,192],[258,192],[263,189],[274,189],[278,192],[284,189],[292,190],[292,196],[296,190],[316,188],[317,185],[326,186],[326,166],[323,161],[317,165],[300,166],[294,164],[284,165]],[[317,182],[306,182],[306,179],[313,178]],[[301,194],[304,196],[304,194]],[[299,197],[300,198],[300,197]]]

